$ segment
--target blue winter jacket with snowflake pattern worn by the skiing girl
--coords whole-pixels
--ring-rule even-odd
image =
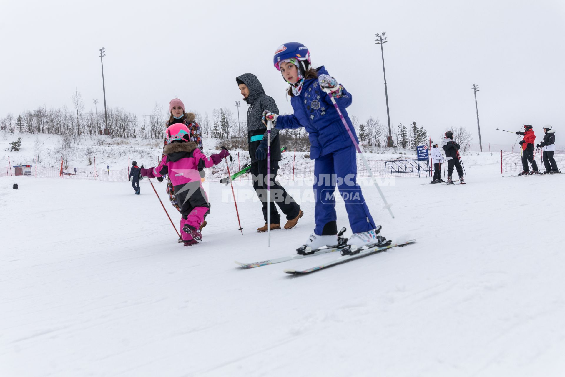
[[[318,68],[318,75],[328,71],[324,66]],[[353,124],[345,108],[351,105],[351,94],[347,90],[342,90],[340,98],[336,98],[337,106],[340,107],[349,129],[359,143]],[[333,106],[328,94],[320,88],[318,79],[308,79],[304,81],[302,91],[298,97],[290,98],[290,104],[294,109],[292,115],[279,115],[276,122],[277,129],[304,127],[310,138],[310,158],[315,159],[320,156],[332,153],[346,146],[353,146],[353,142],[341,122],[340,115]]]

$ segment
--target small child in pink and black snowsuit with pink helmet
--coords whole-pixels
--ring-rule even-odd
[[[199,228],[204,221],[204,215],[210,211],[210,203],[202,188],[198,167],[217,165],[229,152],[223,149],[218,154],[206,157],[194,141],[187,141],[190,133],[182,123],[167,128],[166,137],[169,144],[163,150],[159,166],[142,168],[141,175],[155,178],[168,174],[182,214],[181,238],[185,246],[190,246],[202,240]]]

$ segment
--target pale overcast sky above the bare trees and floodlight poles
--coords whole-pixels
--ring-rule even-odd
[[[147,114],[179,97],[191,110],[236,112],[235,77],[255,73],[281,112],[292,111],[272,64],[299,41],[353,95],[350,115],[386,124],[375,33],[386,32],[392,127],[416,120],[433,137],[464,125],[478,142],[513,143],[503,128],[562,129],[565,1],[15,1],[0,0],[0,117],[38,106],[86,111],[106,101]],[[245,114],[246,106],[242,107]],[[565,128],[564,128],[565,129]],[[559,135],[559,133],[557,134]],[[565,133],[563,134],[565,137]]]

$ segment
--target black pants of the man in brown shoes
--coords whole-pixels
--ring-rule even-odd
[[[253,188],[259,200],[263,203],[263,219],[267,222],[267,160],[251,162],[250,171],[251,178],[253,179]],[[280,224],[281,216],[275,207],[275,203],[277,203],[282,213],[286,215],[287,220],[294,219],[300,211],[298,203],[275,180],[278,171],[279,162],[271,160],[271,224]]]

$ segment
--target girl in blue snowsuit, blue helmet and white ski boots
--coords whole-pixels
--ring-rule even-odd
[[[377,242],[380,227],[376,229],[356,181],[355,146],[324,89],[331,90],[355,140],[359,142],[345,110],[351,105],[351,94],[329,76],[323,66],[310,68],[310,53],[298,42],[280,46],[275,52],[274,64],[290,84],[288,94],[294,114],[277,115],[265,111],[263,122],[271,120],[277,129],[304,127],[310,138],[310,158],[315,162],[316,228],[305,245],[311,249],[337,245],[336,202],[333,197],[336,185],[344,199],[353,231],[347,244],[363,246]]]

